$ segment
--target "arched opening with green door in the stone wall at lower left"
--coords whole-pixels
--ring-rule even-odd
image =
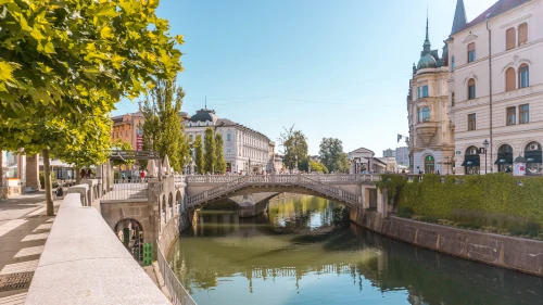
[[[136,259],[143,259],[143,226],[140,221],[134,218],[123,218],[115,225],[114,231]]]

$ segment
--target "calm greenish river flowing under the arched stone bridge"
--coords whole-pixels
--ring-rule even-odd
[[[199,305],[543,304],[543,279],[416,247],[341,221],[313,196],[255,218],[202,211],[168,260]]]

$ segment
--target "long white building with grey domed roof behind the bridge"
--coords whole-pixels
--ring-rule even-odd
[[[275,143],[268,137],[230,119],[219,118],[214,110],[202,109],[185,122],[190,142],[201,135],[203,143],[207,126],[223,134],[226,171],[262,174],[274,170]]]

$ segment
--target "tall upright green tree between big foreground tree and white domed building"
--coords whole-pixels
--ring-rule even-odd
[[[185,91],[176,87],[175,79],[159,80],[146,97],[142,113],[143,149],[157,151],[161,157],[169,158],[176,171],[181,171],[190,157],[189,142],[181,124],[181,111]]]

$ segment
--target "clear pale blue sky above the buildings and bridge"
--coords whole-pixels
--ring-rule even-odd
[[[464,0],[468,21],[495,0]],[[408,134],[406,94],[425,40],[451,31],[456,0],[161,0],[157,14],[182,34],[187,96],[182,111],[204,106],[276,141],[295,124],[318,154],[324,137],[345,152],[381,156]],[[117,103],[114,115],[137,111]],[[280,148],[279,150],[280,151]]]

